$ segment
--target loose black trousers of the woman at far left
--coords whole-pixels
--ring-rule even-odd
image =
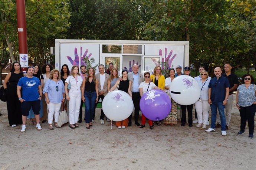
[[[6,105],[9,125],[22,125],[21,103],[17,95],[17,88],[9,87],[7,89]]]

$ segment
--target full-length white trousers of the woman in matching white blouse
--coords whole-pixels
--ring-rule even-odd
[[[69,91],[69,123],[75,124],[78,121],[79,110],[81,105],[81,90],[72,90]]]

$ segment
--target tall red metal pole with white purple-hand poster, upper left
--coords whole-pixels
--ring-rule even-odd
[[[25,0],[16,0],[16,6],[17,6],[20,65],[22,66],[22,71],[26,71],[29,65],[29,58],[27,55],[27,26],[26,26]]]

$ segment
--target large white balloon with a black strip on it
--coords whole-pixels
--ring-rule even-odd
[[[188,75],[180,75],[170,85],[171,98],[180,105],[191,105],[200,98],[201,89],[197,81]]]

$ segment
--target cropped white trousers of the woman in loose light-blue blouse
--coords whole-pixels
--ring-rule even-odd
[[[60,114],[60,103],[52,103],[50,102],[49,104],[47,103],[48,106],[48,123],[52,124],[52,119],[54,115],[54,122],[58,122],[59,119],[59,114]]]

